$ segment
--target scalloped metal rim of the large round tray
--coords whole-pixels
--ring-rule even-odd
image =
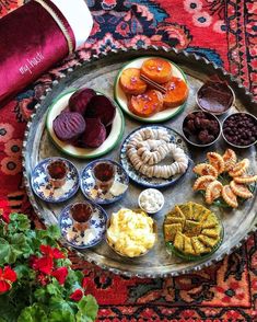
[[[66,79],[67,76],[70,74],[70,72],[81,68],[81,66],[83,66],[84,64],[90,64],[92,61],[97,61],[101,59],[104,59],[106,56],[108,55],[120,55],[121,53],[127,53],[127,51],[137,51],[137,53],[142,53],[142,55],[145,55],[145,50],[152,50],[153,55],[157,54],[157,53],[162,53],[164,51],[165,54],[175,54],[175,55],[182,55],[184,56],[186,59],[192,59],[196,61],[200,61],[205,65],[209,65],[213,71],[219,71],[224,78],[229,79],[229,81],[231,83],[233,83],[234,87],[236,87],[238,90],[241,90],[241,92],[243,93],[243,95],[250,102],[250,104],[255,105],[257,107],[257,102],[255,101],[254,95],[242,84],[238,82],[237,79],[234,78],[234,76],[230,72],[227,72],[224,68],[217,66],[214,62],[208,60],[205,57],[198,56],[195,53],[187,53],[186,50],[178,50],[176,48],[167,48],[164,46],[148,46],[148,47],[140,47],[138,48],[137,46],[133,47],[129,47],[129,48],[119,48],[119,49],[112,49],[108,50],[107,53],[101,53],[100,55],[93,55],[90,59],[86,59],[82,65],[75,66],[74,68],[68,68],[65,71],[65,76],[60,79],[60,81],[63,81]],[[50,84],[50,87],[46,90],[46,95],[49,94],[56,87],[58,87],[59,82],[58,80],[54,80]],[[43,216],[43,214],[39,211],[38,207],[37,207],[37,203],[36,199],[34,197],[33,191],[31,188],[30,185],[30,179],[27,175],[27,171],[26,171],[26,162],[25,162],[25,158],[26,158],[26,143],[27,143],[27,137],[28,137],[28,133],[30,133],[30,128],[32,126],[33,123],[33,118],[37,113],[37,110],[40,107],[40,105],[44,103],[44,100],[46,99],[46,95],[43,95],[39,97],[39,103],[36,104],[35,108],[34,108],[34,113],[31,115],[26,128],[25,128],[25,133],[24,133],[24,139],[23,139],[23,148],[22,148],[22,165],[23,165],[23,180],[24,180],[24,187],[25,191],[27,193],[28,196],[28,200],[36,214],[36,216],[43,221],[45,222],[45,218]],[[69,249],[72,252],[75,252],[77,255],[79,257],[81,257],[84,261],[87,261],[92,264],[97,265],[98,267],[101,267],[102,269],[105,271],[109,271],[114,274],[117,275],[124,275],[124,276],[128,276],[128,277],[139,277],[139,278],[165,278],[165,277],[175,277],[175,276],[180,276],[180,275],[185,275],[185,274],[189,274],[189,273],[194,273],[194,272],[198,272],[201,271],[206,267],[209,267],[218,262],[220,262],[221,260],[223,260],[226,255],[230,255],[231,253],[233,253],[235,250],[237,250],[240,246],[243,245],[243,243],[245,241],[248,240],[248,238],[255,232],[257,231],[257,217],[255,222],[249,227],[249,229],[245,232],[244,238],[242,238],[241,240],[237,241],[237,243],[235,245],[233,245],[227,252],[222,253],[220,256],[215,257],[215,258],[211,258],[211,260],[207,260],[205,263],[200,263],[197,264],[195,267],[190,267],[190,268],[185,268],[182,269],[179,272],[171,272],[171,273],[156,273],[156,274],[144,274],[144,273],[135,273],[135,272],[128,272],[128,271],[121,271],[118,268],[114,268],[114,267],[109,267],[104,265],[103,263],[98,263],[97,261],[94,261],[90,257],[86,256],[86,253],[80,253],[78,250],[71,248],[69,244],[66,243],[66,241],[63,239],[61,239],[61,244],[63,246],[66,246],[67,249]]]

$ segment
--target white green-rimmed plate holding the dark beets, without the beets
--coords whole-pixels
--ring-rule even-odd
[[[75,90],[72,90],[61,94],[52,102],[52,104],[48,108],[46,127],[50,135],[50,138],[61,151],[63,151],[65,153],[71,157],[75,157],[80,159],[91,159],[91,158],[96,158],[96,157],[106,154],[118,145],[124,134],[124,115],[120,108],[117,106],[117,104],[115,104],[115,102],[113,103],[116,106],[116,115],[112,124],[110,133],[108,137],[106,138],[106,140],[103,142],[103,145],[101,145],[98,148],[95,148],[95,149],[79,148],[71,143],[59,140],[57,136],[55,135],[55,131],[52,129],[52,122],[61,113],[61,111],[67,108],[69,99],[74,92]]]

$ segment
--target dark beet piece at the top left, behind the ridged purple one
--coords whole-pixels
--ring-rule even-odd
[[[74,92],[69,100],[70,111],[84,115],[90,100],[95,95],[96,93],[92,89],[81,89]]]

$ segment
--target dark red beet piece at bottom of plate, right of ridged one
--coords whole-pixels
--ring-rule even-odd
[[[106,129],[100,118],[85,118],[83,143],[90,148],[100,147],[106,139]]]

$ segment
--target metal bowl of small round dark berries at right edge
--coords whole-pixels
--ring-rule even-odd
[[[257,118],[249,113],[229,115],[222,123],[224,140],[235,148],[249,148],[257,142]]]

